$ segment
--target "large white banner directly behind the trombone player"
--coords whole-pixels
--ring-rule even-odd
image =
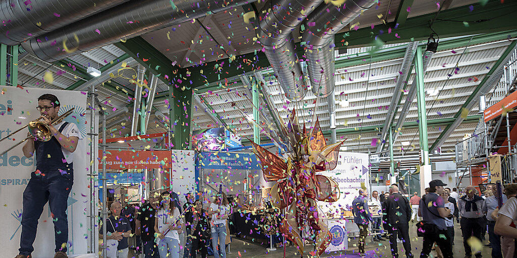
[[[65,121],[77,124],[81,140],[73,153],[74,183],[68,198],[68,253],[86,253],[88,243],[89,215],[89,113],[86,112],[86,95],[79,91],[50,90],[39,88],[17,88],[0,86],[0,137],[3,138],[18,128],[37,119],[40,114],[36,109],[38,97],[45,93],[54,94],[60,101],[59,115],[70,108],[74,111]],[[22,130],[16,135],[4,140],[0,152],[7,150],[14,143],[24,139],[28,130]],[[23,144],[0,156],[0,200],[2,208],[0,217],[3,218],[3,233],[0,234],[0,249],[3,257],[14,257],[20,247],[22,197],[25,186],[35,171],[34,157],[26,158],[22,153]],[[96,200],[95,200],[96,201]],[[48,204],[45,205],[39,219],[34,258],[53,257],[54,255],[54,224]]]

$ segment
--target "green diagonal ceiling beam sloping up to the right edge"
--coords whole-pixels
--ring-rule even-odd
[[[462,105],[460,110],[456,112],[454,115],[454,119],[457,120],[455,123],[449,124],[445,130],[438,136],[438,138],[433,142],[433,145],[431,148],[429,148],[429,151],[433,151],[435,148],[439,147],[440,144],[442,144],[447,137],[458,127],[459,123],[461,123],[462,120],[462,113],[464,112],[464,109],[467,110],[467,112],[470,111],[470,109],[474,106],[474,104],[478,101],[477,98],[481,94],[486,94],[490,89],[492,89],[493,84],[497,83],[497,77],[500,79],[500,73],[501,69],[504,69],[504,66],[508,62],[508,59],[515,50],[515,45],[517,44],[517,41],[514,40],[510,45],[506,48],[505,52],[501,55],[501,57],[495,62],[495,64],[492,66],[492,69],[483,77],[479,85],[474,89],[472,94],[468,97],[468,99],[465,101],[465,103]],[[500,74],[499,74],[500,73]],[[496,80],[496,81],[494,81]]]

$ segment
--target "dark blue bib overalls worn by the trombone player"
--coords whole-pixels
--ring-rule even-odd
[[[59,132],[67,126],[65,122]],[[68,164],[61,145],[52,137],[50,141],[36,141],[36,171],[23,191],[22,234],[20,254],[29,255],[34,251],[34,240],[38,219],[43,206],[49,202],[53,214],[56,252],[66,252],[68,242],[68,220],[66,210],[68,195],[73,185],[73,164]]]

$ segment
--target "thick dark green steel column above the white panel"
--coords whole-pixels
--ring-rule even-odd
[[[169,87],[169,118],[172,149],[188,150],[190,145],[192,89],[176,91]]]

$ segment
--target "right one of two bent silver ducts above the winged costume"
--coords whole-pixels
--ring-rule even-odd
[[[340,7],[328,3],[319,6],[309,15],[301,40],[306,42],[307,46],[305,54],[314,95],[326,98],[334,91],[334,34],[376,2],[376,0],[348,0]],[[310,26],[312,24],[315,26]]]

